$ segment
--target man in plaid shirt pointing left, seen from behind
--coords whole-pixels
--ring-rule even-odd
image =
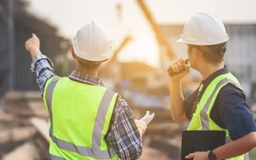
[[[134,120],[128,104],[97,77],[111,40],[100,24],[89,22],[72,40],[76,70],[58,77],[33,34],[26,42],[40,93],[49,114],[50,157],[61,159],[138,159],[147,124]]]

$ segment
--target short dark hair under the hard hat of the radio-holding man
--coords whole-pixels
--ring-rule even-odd
[[[218,64],[223,61],[224,53],[226,52],[227,42],[216,45],[189,45],[189,52],[195,47],[202,52],[205,61],[212,64]]]

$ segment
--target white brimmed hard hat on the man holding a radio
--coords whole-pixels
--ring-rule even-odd
[[[215,45],[228,41],[221,19],[212,13],[197,13],[186,22],[178,43],[192,45]]]

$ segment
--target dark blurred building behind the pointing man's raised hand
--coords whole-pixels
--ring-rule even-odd
[[[57,28],[38,19],[24,1],[0,1],[0,96],[8,90],[37,90],[31,73],[31,57],[24,44],[32,33],[40,38],[40,50],[55,61],[70,49],[70,42],[57,36]]]

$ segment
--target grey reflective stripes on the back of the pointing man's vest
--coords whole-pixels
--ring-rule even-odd
[[[100,142],[101,142],[101,136],[102,136],[102,131],[103,131],[108,107],[109,107],[111,100],[113,99],[113,96],[115,95],[115,93],[106,89],[106,92],[104,93],[104,95],[102,97],[99,109],[97,111],[97,116],[95,118],[95,125],[93,127],[92,148],[77,146],[68,141],[60,140],[59,138],[56,138],[56,136],[54,136],[54,134],[53,134],[52,94],[53,94],[54,88],[55,88],[56,84],[58,83],[58,81],[59,81],[59,77],[53,77],[52,81],[49,83],[49,85],[46,88],[46,95],[45,95],[45,98],[47,101],[47,108],[49,111],[49,118],[50,118],[49,135],[50,135],[52,141],[54,143],[56,143],[56,145],[59,148],[68,150],[70,152],[76,152],[77,154],[80,154],[82,156],[93,157],[96,159],[111,159],[111,157],[115,156],[115,150],[113,150],[113,148],[109,148],[109,150],[100,150]],[[58,159],[56,159],[56,160],[58,160]]]

